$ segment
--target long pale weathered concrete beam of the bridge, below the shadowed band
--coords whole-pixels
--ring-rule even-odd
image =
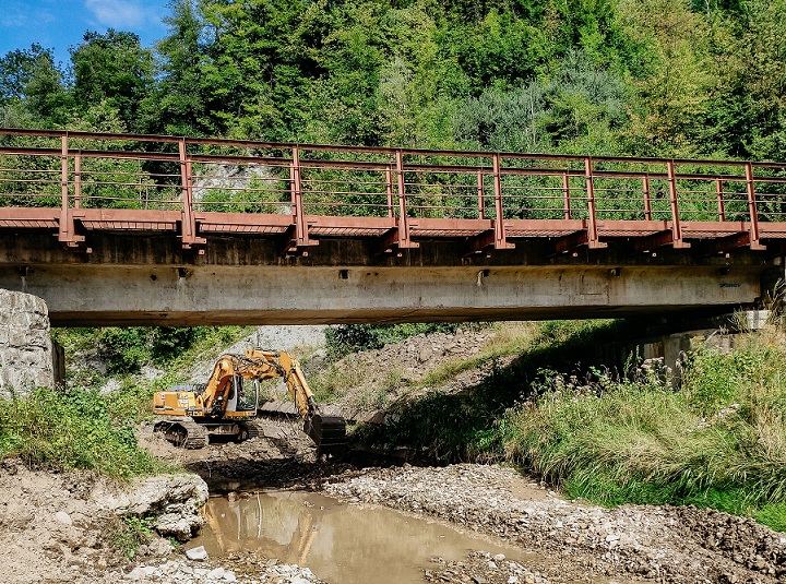
[[[0,265],[55,326],[611,318],[751,305],[761,266]]]

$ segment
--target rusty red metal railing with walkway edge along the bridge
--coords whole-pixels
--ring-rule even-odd
[[[786,239],[786,163],[279,144],[0,129],[0,229],[325,237],[389,251],[450,238],[471,251],[548,238],[556,251],[713,250]]]

